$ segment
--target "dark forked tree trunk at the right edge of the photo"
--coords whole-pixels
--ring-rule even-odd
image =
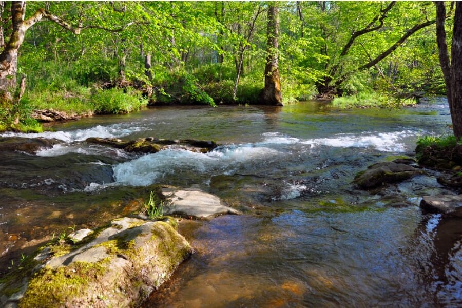
[[[452,129],[457,140],[462,138],[462,5],[456,2],[452,33],[451,59],[446,43],[444,2],[435,1],[436,40],[439,48],[439,62],[445,76],[446,94],[451,110]]]

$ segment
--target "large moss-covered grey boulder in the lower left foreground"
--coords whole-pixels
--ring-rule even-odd
[[[45,258],[25,292],[0,304],[20,307],[136,306],[192,252],[167,222],[114,220],[80,248]],[[42,260],[42,261],[40,261]],[[46,262],[45,262],[46,261]],[[43,263],[45,262],[45,263]],[[5,290],[0,286],[0,294]]]

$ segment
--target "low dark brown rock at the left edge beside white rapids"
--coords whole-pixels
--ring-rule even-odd
[[[0,151],[20,151],[28,154],[35,154],[41,149],[50,149],[55,144],[62,143],[56,139],[46,138],[23,138],[23,137],[0,137]]]

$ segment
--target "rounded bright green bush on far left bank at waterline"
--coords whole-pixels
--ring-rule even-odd
[[[92,95],[91,101],[95,106],[95,112],[99,114],[128,113],[147,105],[147,99],[132,88],[98,90]]]

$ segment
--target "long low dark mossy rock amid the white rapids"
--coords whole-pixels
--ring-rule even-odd
[[[138,140],[122,141],[115,138],[88,138],[86,143],[101,144],[123,149],[127,152],[157,153],[168,147],[177,146],[187,150],[206,153],[215,149],[218,145],[214,141],[195,139],[168,140],[152,137],[140,138]]]

